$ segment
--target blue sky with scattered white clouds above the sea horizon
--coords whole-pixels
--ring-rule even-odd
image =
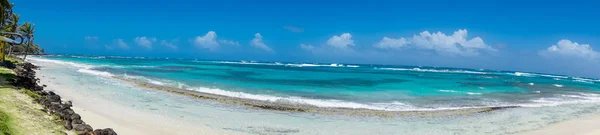
[[[13,0],[47,53],[600,78],[597,1]]]

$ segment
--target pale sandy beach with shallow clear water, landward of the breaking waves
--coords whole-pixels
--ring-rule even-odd
[[[161,83],[122,80],[98,69],[73,66],[80,63],[36,59],[32,62],[41,66],[37,76],[48,86],[46,90],[72,100],[74,110],[94,128],[111,127],[127,134],[545,134],[561,133],[546,128],[555,123],[600,112],[592,98],[571,104],[544,101],[545,106],[406,117],[272,110],[178,94],[162,90]]]

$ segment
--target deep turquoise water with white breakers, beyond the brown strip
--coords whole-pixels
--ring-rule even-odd
[[[33,59],[95,76],[321,107],[408,111],[600,103],[598,79],[517,71],[141,57]]]

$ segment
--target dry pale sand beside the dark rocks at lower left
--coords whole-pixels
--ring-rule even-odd
[[[38,73],[39,74],[39,73]],[[40,74],[42,75],[42,74]],[[112,127],[119,134],[164,135],[164,134],[235,134],[209,127],[191,125],[175,118],[142,112],[112,101],[85,93],[76,93],[65,84],[55,84],[50,76],[41,76],[41,83],[48,89],[73,101],[73,110],[90,125]],[[185,129],[185,130],[182,130]]]

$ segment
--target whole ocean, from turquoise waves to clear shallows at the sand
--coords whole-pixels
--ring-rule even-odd
[[[209,127],[248,134],[518,134],[600,111],[599,79],[544,73],[111,56],[54,55],[32,57],[29,61],[40,65],[40,72],[45,75],[56,76],[58,79],[54,81],[82,86],[78,92],[99,94],[124,106],[177,114],[191,123],[203,121]],[[398,118],[281,112],[165,92],[149,93],[150,88],[115,78],[319,108],[381,111],[518,108],[458,116]]]

